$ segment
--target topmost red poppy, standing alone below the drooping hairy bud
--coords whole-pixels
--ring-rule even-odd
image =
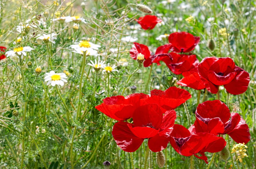
[[[145,15],[144,17],[140,17],[139,20],[135,19],[142,29],[154,29],[157,23],[162,22],[161,19],[157,18],[155,15]]]

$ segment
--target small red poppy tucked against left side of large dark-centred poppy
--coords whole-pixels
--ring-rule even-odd
[[[204,82],[200,79],[198,72],[188,71],[183,72],[184,78],[180,79],[177,84],[181,86],[187,86],[196,90],[204,89]]]

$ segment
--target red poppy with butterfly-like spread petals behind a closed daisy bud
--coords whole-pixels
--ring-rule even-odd
[[[136,60],[139,53],[144,55],[145,61],[143,62],[144,67],[150,66],[152,63],[157,63],[160,65],[160,61],[164,61],[166,64],[170,64],[172,61],[171,55],[168,53],[171,44],[166,44],[159,46],[156,49],[156,53],[152,53],[148,46],[139,44],[137,42],[133,43],[135,47],[130,50],[130,56],[132,59]]]

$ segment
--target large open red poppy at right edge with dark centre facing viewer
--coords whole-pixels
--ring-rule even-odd
[[[198,74],[205,87],[211,93],[218,92],[218,86],[224,85],[228,93],[238,95],[244,93],[249,85],[249,73],[237,67],[229,58],[206,57],[198,64]]]

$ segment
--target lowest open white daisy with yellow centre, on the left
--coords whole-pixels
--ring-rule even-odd
[[[64,85],[64,81],[68,82],[65,78],[68,78],[64,73],[55,73],[53,70],[50,73],[45,73],[46,76],[44,77],[44,81],[48,81],[47,85],[51,84],[52,86],[55,85]]]

